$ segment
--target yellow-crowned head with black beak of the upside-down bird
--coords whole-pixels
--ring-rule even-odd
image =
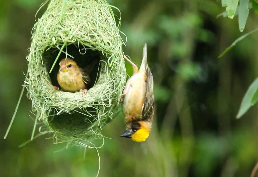
[[[131,138],[133,141],[145,141],[150,134],[151,122],[150,121],[136,121],[127,124],[127,130],[120,136]]]

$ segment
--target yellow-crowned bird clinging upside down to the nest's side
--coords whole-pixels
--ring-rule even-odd
[[[147,44],[143,47],[139,71],[125,55],[124,59],[131,63],[133,75],[128,79],[121,97],[126,131],[120,136],[142,142],[149,137],[154,114],[153,78],[147,64]]]

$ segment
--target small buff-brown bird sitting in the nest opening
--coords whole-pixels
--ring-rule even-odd
[[[61,89],[68,92],[87,91],[87,84],[90,82],[89,73],[93,69],[97,60],[94,60],[85,69],[80,68],[77,63],[70,59],[62,59],[59,63],[59,72],[57,74],[57,81]],[[59,90],[54,86],[54,90]]]

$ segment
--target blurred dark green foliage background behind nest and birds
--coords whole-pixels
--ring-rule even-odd
[[[30,139],[34,120],[23,95],[7,139],[26,73],[35,13],[43,1],[0,1],[0,176],[96,176],[95,149],[53,144],[43,135]],[[258,75],[258,32],[217,56],[237,37],[258,27],[250,10],[243,33],[236,19],[218,18],[219,0],[109,0],[122,14],[125,54],[138,66],[148,44],[154,77],[155,115],[150,137],[136,143],[119,135],[119,114],[104,130],[99,176],[250,176],[258,160],[257,105],[240,119],[245,91]],[[40,18],[45,7],[39,11]],[[118,11],[114,12],[119,15]],[[123,36],[123,39],[125,37]],[[132,74],[126,63],[127,73]]]

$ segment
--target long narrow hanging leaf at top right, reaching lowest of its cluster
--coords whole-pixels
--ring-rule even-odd
[[[240,0],[238,15],[238,26],[240,32],[243,32],[245,29],[246,20],[249,14],[248,3],[249,0]]]

